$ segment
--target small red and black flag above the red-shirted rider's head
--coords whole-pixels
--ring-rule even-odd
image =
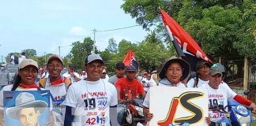
[[[138,68],[138,63],[136,61],[135,54],[132,50],[128,51],[122,63],[124,63],[126,66],[134,65],[136,68]]]

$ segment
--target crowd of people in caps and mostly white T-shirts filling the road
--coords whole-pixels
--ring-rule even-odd
[[[250,106],[256,111],[254,102],[237,95],[223,81],[224,66],[210,64],[199,60],[196,65],[197,75],[190,77],[190,64],[179,58],[171,57],[164,63],[159,72],[139,69],[133,65],[125,66],[122,62],[115,65],[115,75],[107,76],[104,60],[98,54],[90,54],[85,59],[81,74],[75,72],[75,66],[70,65],[67,72],[61,74],[64,68],[62,57],[51,55],[44,68],[39,68],[36,61],[23,59],[13,84],[3,87],[0,91],[0,125],[4,125],[4,91],[43,91],[51,92],[51,119],[47,125],[115,125],[111,116],[117,116],[113,111],[118,104],[134,98],[142,98],[145,120],[150,121],[154,113],[149,113],[150,87],[194,87],[203,88],[209,94],[209,106],[227,106],[228,98]],[[39,72],[43,71],[40,80],[36,82]],[[190,78],[190,80],[188,80]],[[221,95],[221,97],[210,97]],[[214,101],[214,102],[213,102]],[[112,109],[112,110],[111,110]],[[35,112],[37,113],[37,112]],[[220,117],[209,111],[205,121],[214,125]],[[25,115],[27,116],[27,115]],[[29,117],[17,117],[21,125],[40,125],[37,121],[29,121]],[[115,119],[115,117],[114,117]]]

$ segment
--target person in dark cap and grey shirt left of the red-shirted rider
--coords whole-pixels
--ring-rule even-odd
[[[122,62],[117,63],[115,65],[115,75],[111,76],[108,79],[108,82],[115,85],[116,80],[124,77],[125,69],[126,69],[126,66]]]

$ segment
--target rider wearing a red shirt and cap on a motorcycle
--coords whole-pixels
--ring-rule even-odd
[[[127,66],[126,77],[116,81],[115,87],[117,89],[119,103],[137,98],[138,95],[145,98],[142,83],[135,78],[136,72],[137,69],[134,66]]]

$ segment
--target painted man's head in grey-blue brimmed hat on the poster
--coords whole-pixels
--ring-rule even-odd
[[[47,108],[47,102],[36,100],[31,93],[21,92],[15,98],[14,104],[15,106],[6,109],[6,115],[19,120],[22,126],[40,126],[38,120]]]

